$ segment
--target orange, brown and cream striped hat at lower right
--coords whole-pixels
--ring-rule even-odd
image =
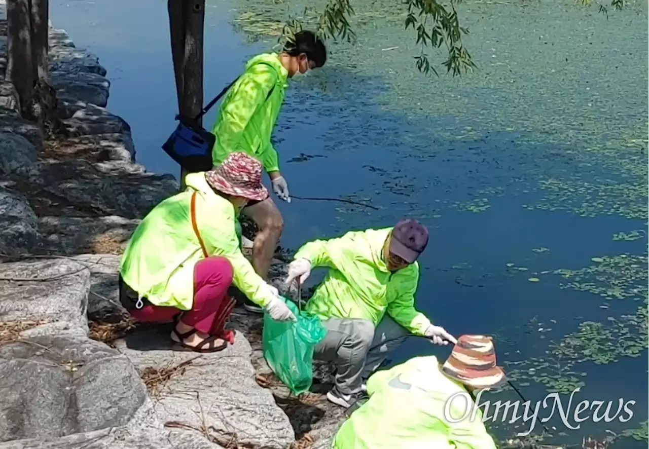
[[[505,372],[496,366],[493,339],[485,335],[461,335],[441,370],[473,388],[496,387],[506,381]]]

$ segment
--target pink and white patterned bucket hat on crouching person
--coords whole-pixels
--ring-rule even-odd
[[[232,152],[223,164],[205,172],[213,189],[252,201],[265,200],[268,191],[262,184],[262,163],[242,151]]]

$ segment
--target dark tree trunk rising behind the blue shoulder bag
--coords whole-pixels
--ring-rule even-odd
[[[195,117],[203,102],[205,0],[167,0],[167,11],[178,112],[184,117]],[[184,177],[181,171],[181,188]]]

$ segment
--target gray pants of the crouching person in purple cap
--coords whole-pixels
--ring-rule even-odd
[[[376,329],[371,321],[347,318],[330,318],[323,326],[327,334],[315,346],[313,357],[336,362],[336,389],[341,394],[360,391],[362,383],[409,335],[387,314]]]

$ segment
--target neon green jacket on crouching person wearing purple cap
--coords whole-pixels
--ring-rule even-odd
[[[374,323],[387,312],[415,335],[423,335],[430,320],[415,309],[419,264],[390,273],[383,246],[392,228],[347,232],[342,237],[306,243],[295,258],[312,267],[328,267],[323,283],[307,310],[321,319],[363,318]]]

